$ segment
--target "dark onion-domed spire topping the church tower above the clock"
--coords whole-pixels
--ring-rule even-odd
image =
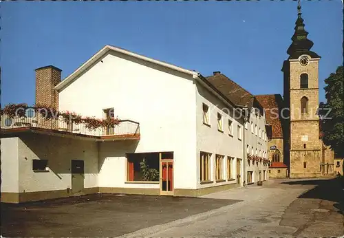
[[[312,58],[320,58],[320,56],[310,49],[313,46],[313,42],[307,39],[308,32],[305,30],[305,24],[301,17],[301,4],[300,0],[297,5],[297,21],[295,22],[295,32],[292,35],[292,44],[289,46],[287,53],[289,58],[299,58],[301,54],[308,54]]]

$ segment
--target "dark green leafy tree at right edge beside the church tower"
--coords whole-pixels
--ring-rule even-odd
[[[323,142],[330,146],[338,157],[344,158],[344,94],[343,66],[325,79],[326,103],[319,105],[319,117]]]

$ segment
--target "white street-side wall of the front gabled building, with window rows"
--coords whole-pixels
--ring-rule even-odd
[[[242,159],[241,162],[241,182],[244,178],[243,164],[244,164],[244,151],[243,139],[238,140],[237,125],[241,126],[241,135],[243,135],[242,122],[233,118],[233,109],[226,105],[222,100],[211,94],[208,89],[196,83],[197,98],[197,156],[195,164],[197,164],[197,188],[206,188],[209,186],[220,186],[224,184],[236,184],[236,181],[229,182],[215,182],[215,155],[224,155],[224,179],[226,179],[227,156],[235,158],[233,161],[233,173],[237,175],[237,159]],[[203,103],[209,107],[209,124],[210,127],[203,123]],[[222,114],[222,127],[223,133],[217,129],[217,113]],[[233,136],[229,136],[228,119],[233,121]],[[242,136],[243,137],[243,136]],[[212,184],[200,184],[200,152],[212,153],[211,155],[211,180]],[[235,176],[236,177],[236,176]]]

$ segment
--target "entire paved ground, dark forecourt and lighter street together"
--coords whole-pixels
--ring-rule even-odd
[[[3,237],[328,237],[343,180],[270,180],[202,198],[87,195],[1,204]],[[342,202],[342,204],[341,204]]]

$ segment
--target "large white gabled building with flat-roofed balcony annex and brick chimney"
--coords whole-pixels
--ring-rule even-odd
[[[120,124],[91,131],[36,115],[1,116],[1,202],[199,196],[246,180],[241,109],[200,73],[106,45],[60,81],[61,69],[36,69],[36,104],[84,117],[112,111]],[[254,148],[266,152],[259,142]]]

